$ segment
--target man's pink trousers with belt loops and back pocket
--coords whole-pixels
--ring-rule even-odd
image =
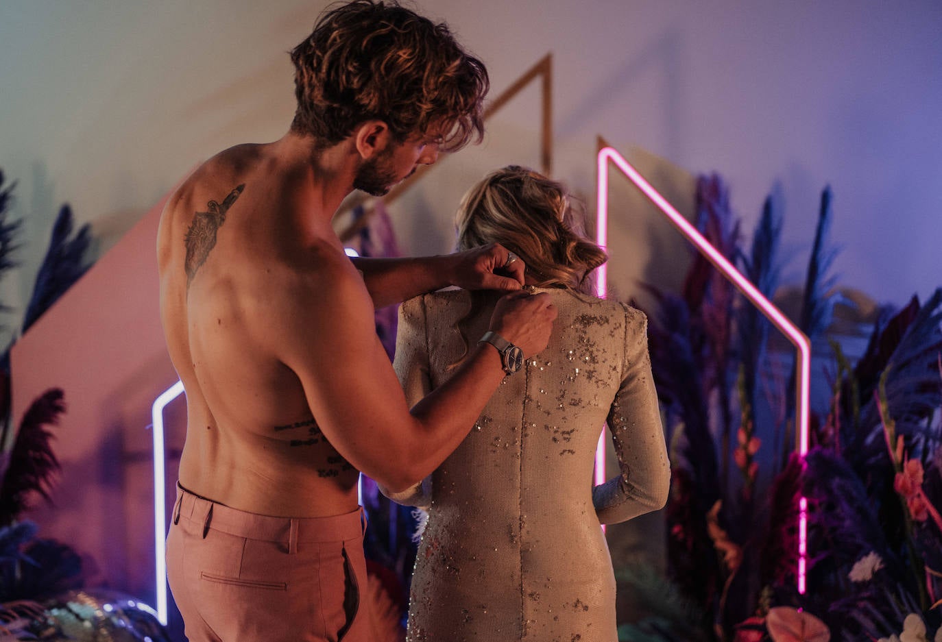
[[[254,515],[177,490],[167,576],[190,642],[373,642],[362,510]]]

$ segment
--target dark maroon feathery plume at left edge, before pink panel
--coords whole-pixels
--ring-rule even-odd
[[[59,469],[46,426],[56,425],[65,411],[64,394],[58,388],[42,393],[26,410],[9,464],[0,483],[0,524],[9,524],[29,507],[34,494],[50,501],[53,475]]]

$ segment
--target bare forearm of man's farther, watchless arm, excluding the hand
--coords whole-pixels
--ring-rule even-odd
[[[377,309],[451,285],[453,259],[448,255],[350,260],[363,272],[366,290]]]

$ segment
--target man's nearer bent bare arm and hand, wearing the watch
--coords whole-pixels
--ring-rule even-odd
[[[504,377],[493,346],[478,345],[447,383],[409,409],[376,336],[373,306],[348,264],[300,277],[266,310],[275,353],[300,378],[333,447],[393,491],[431,473],[474,425]],[[491,329],[530,356],[556,311],[546,295],[501,299]]]

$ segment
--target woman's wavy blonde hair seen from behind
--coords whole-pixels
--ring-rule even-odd
[[[564,185],[510,165],[464,195],[455,217],[456,248],[499,243],[520,256],[538,287],[592,294],[593,270],[608,257],[586,238],[585,207]]]

